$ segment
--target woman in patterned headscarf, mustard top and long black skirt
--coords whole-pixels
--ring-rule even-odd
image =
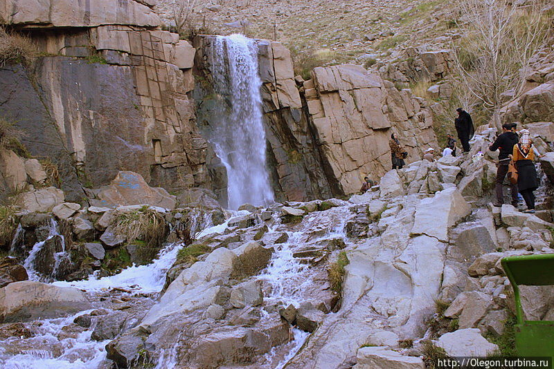
[[[514,145],[512,151],[512,160],[517,167],[517,189],[527,205],[524,213],[535,213],[535,193],[533,191],[539,187],[537,169],[533,163],[535,147],[527,129],[522,129],[519,134],[519,142]]]

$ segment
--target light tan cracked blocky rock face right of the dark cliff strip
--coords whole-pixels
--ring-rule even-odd
[[[343,193],[355,193],[364,175],[378,178],[390,169],[391,133],[408,162],[437,146],[431,114],[411,91],[397,91],[361,66],[315,68],[304,88],[329,181]]]

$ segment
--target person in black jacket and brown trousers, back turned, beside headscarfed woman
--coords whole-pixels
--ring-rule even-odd
[[[496,191],[497,191],[497,202],[494,204],[495,207],[501,207],[504,203],[504,195],[502,192],[502,182],[508,174],[508,164],[510,164],[510,158],[508,155],[512,154],[514,145],[519,141],[519,136],[515,133],[516,124],[515,123],[506,123],[502,125],[502,134],[498,136],[489,146],[490,151],[497,151],[500,149],[498,155],[498,169],[497,169],[497,180],[496,180]],[[512,205],[517,207],[517,184],[512,185],[510,183],[510,192],[512,193]]]

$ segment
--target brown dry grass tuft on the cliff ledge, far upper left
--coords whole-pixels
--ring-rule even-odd
[[[21,63],[28,67],[37,56],[37,47],[30,38],[0,26],[0,66]]]

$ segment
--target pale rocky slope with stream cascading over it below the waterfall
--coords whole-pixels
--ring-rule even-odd
[[[490,133],[476,135],[474,152]],[[546,155],[542,167],[551,158]],[[44,348],[53,359],[72,362],[68,350],[78,350],[77,357],[102,368],[160,362],[187,368],[423,368],[429,340],[452,356],[492,352],[497,346],[483,336],[494,341],[514,312],[500,259],[553,253],[554,240],[548,182],[539,190],[537,214],[492,207],[490,160],[467,155],[413,162],[348,201],[244,206],[198,234],[194,245],[166,244],[145,269],[54,285],[9,283],[0,290],[0,332],[9,348],[0,360],[9,367],[21,359],[26,345],[45,334],[44,324],[69,344],[60,351]],[[177,225],[184,211],[166,218]],[[105,241],[100,238],[109,252]],[[332,276],[337,265],[344,271],[338,280]],[[69,286],[85,293],[54,290]],[[37,292],[48,288],[52,292]],[[27,299],[21,315],[14,302]],[[524,308],[528,319],[552,319],[553,296],[529,288]],[[51,319],[36,321],[38,316]],[[69,343],[72,334],[82,335]]]

